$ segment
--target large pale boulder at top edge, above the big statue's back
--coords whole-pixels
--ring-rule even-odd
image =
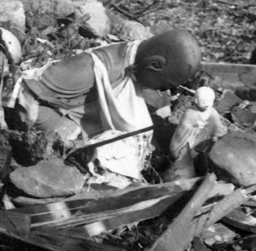
[[[110,30],[110,21],[103,4],[96,0],[21,0],[25,9],[40,10],[40,13],[55,13],[63,18],[75,12],[78,18],[89,13],[86,21],[100,36],[106,36]]]

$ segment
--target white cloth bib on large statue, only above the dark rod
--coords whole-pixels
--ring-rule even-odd
[[[125,67],[134,63],[140,42],[134,41],[129,44],[125,57]],[[150,114],[142,97],[141,87],[134,85],[130,77],[125,77],[122,83],[113,90],[106,67],[93,51],[89,53],[94,60],[103,131],[112,129],[131,132],[152,125]]]

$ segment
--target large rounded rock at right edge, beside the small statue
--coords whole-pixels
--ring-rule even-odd
[[[256,183],[256,136],[236,131],[226,134],[209,153],[220,179],[240,186]]]

